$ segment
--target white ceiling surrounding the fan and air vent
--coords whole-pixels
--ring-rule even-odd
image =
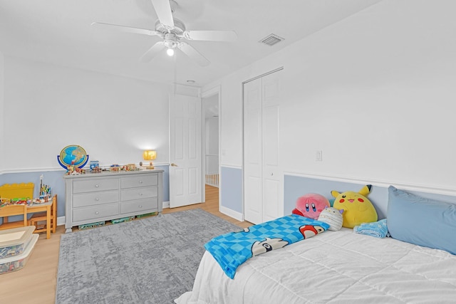
[[[238,40],[188,42],[211,64],[199,67],[183,53],[140,57],[160,38],[109,31],[93,22],[155,28],[150,0],[0,0],[0,51],[71,68],[159,83],[202,86],[279,51],[381,0],[177,0],[175,18],[187,30],[234,30]],[[274,33],[274,46],[259,43]]]

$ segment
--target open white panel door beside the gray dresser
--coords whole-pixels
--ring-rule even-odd
[[[170,162],[170,207],[202,202],[200,98],[170,98]]]

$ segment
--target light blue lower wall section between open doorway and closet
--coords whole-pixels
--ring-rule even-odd
[[[242,169],[221,167],[221,205],[242,214]]]

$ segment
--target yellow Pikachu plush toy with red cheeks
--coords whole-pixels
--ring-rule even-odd
[[[347,228],[353,228],[362,223],[371,223],[378,220],[375,207],[366,197],[371,192],[370,184],[363,187],[360,192],[347,191],[339,193],[336,190],[331,194],[336,197],[333,207],[343,209],[343,224]]]

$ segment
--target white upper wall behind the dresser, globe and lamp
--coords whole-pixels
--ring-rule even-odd
[[[145,149],[168,162],[169,86],[9,56],[0,70],[4,170],[58,168],[66,145],[102,165],[138,164]]]

